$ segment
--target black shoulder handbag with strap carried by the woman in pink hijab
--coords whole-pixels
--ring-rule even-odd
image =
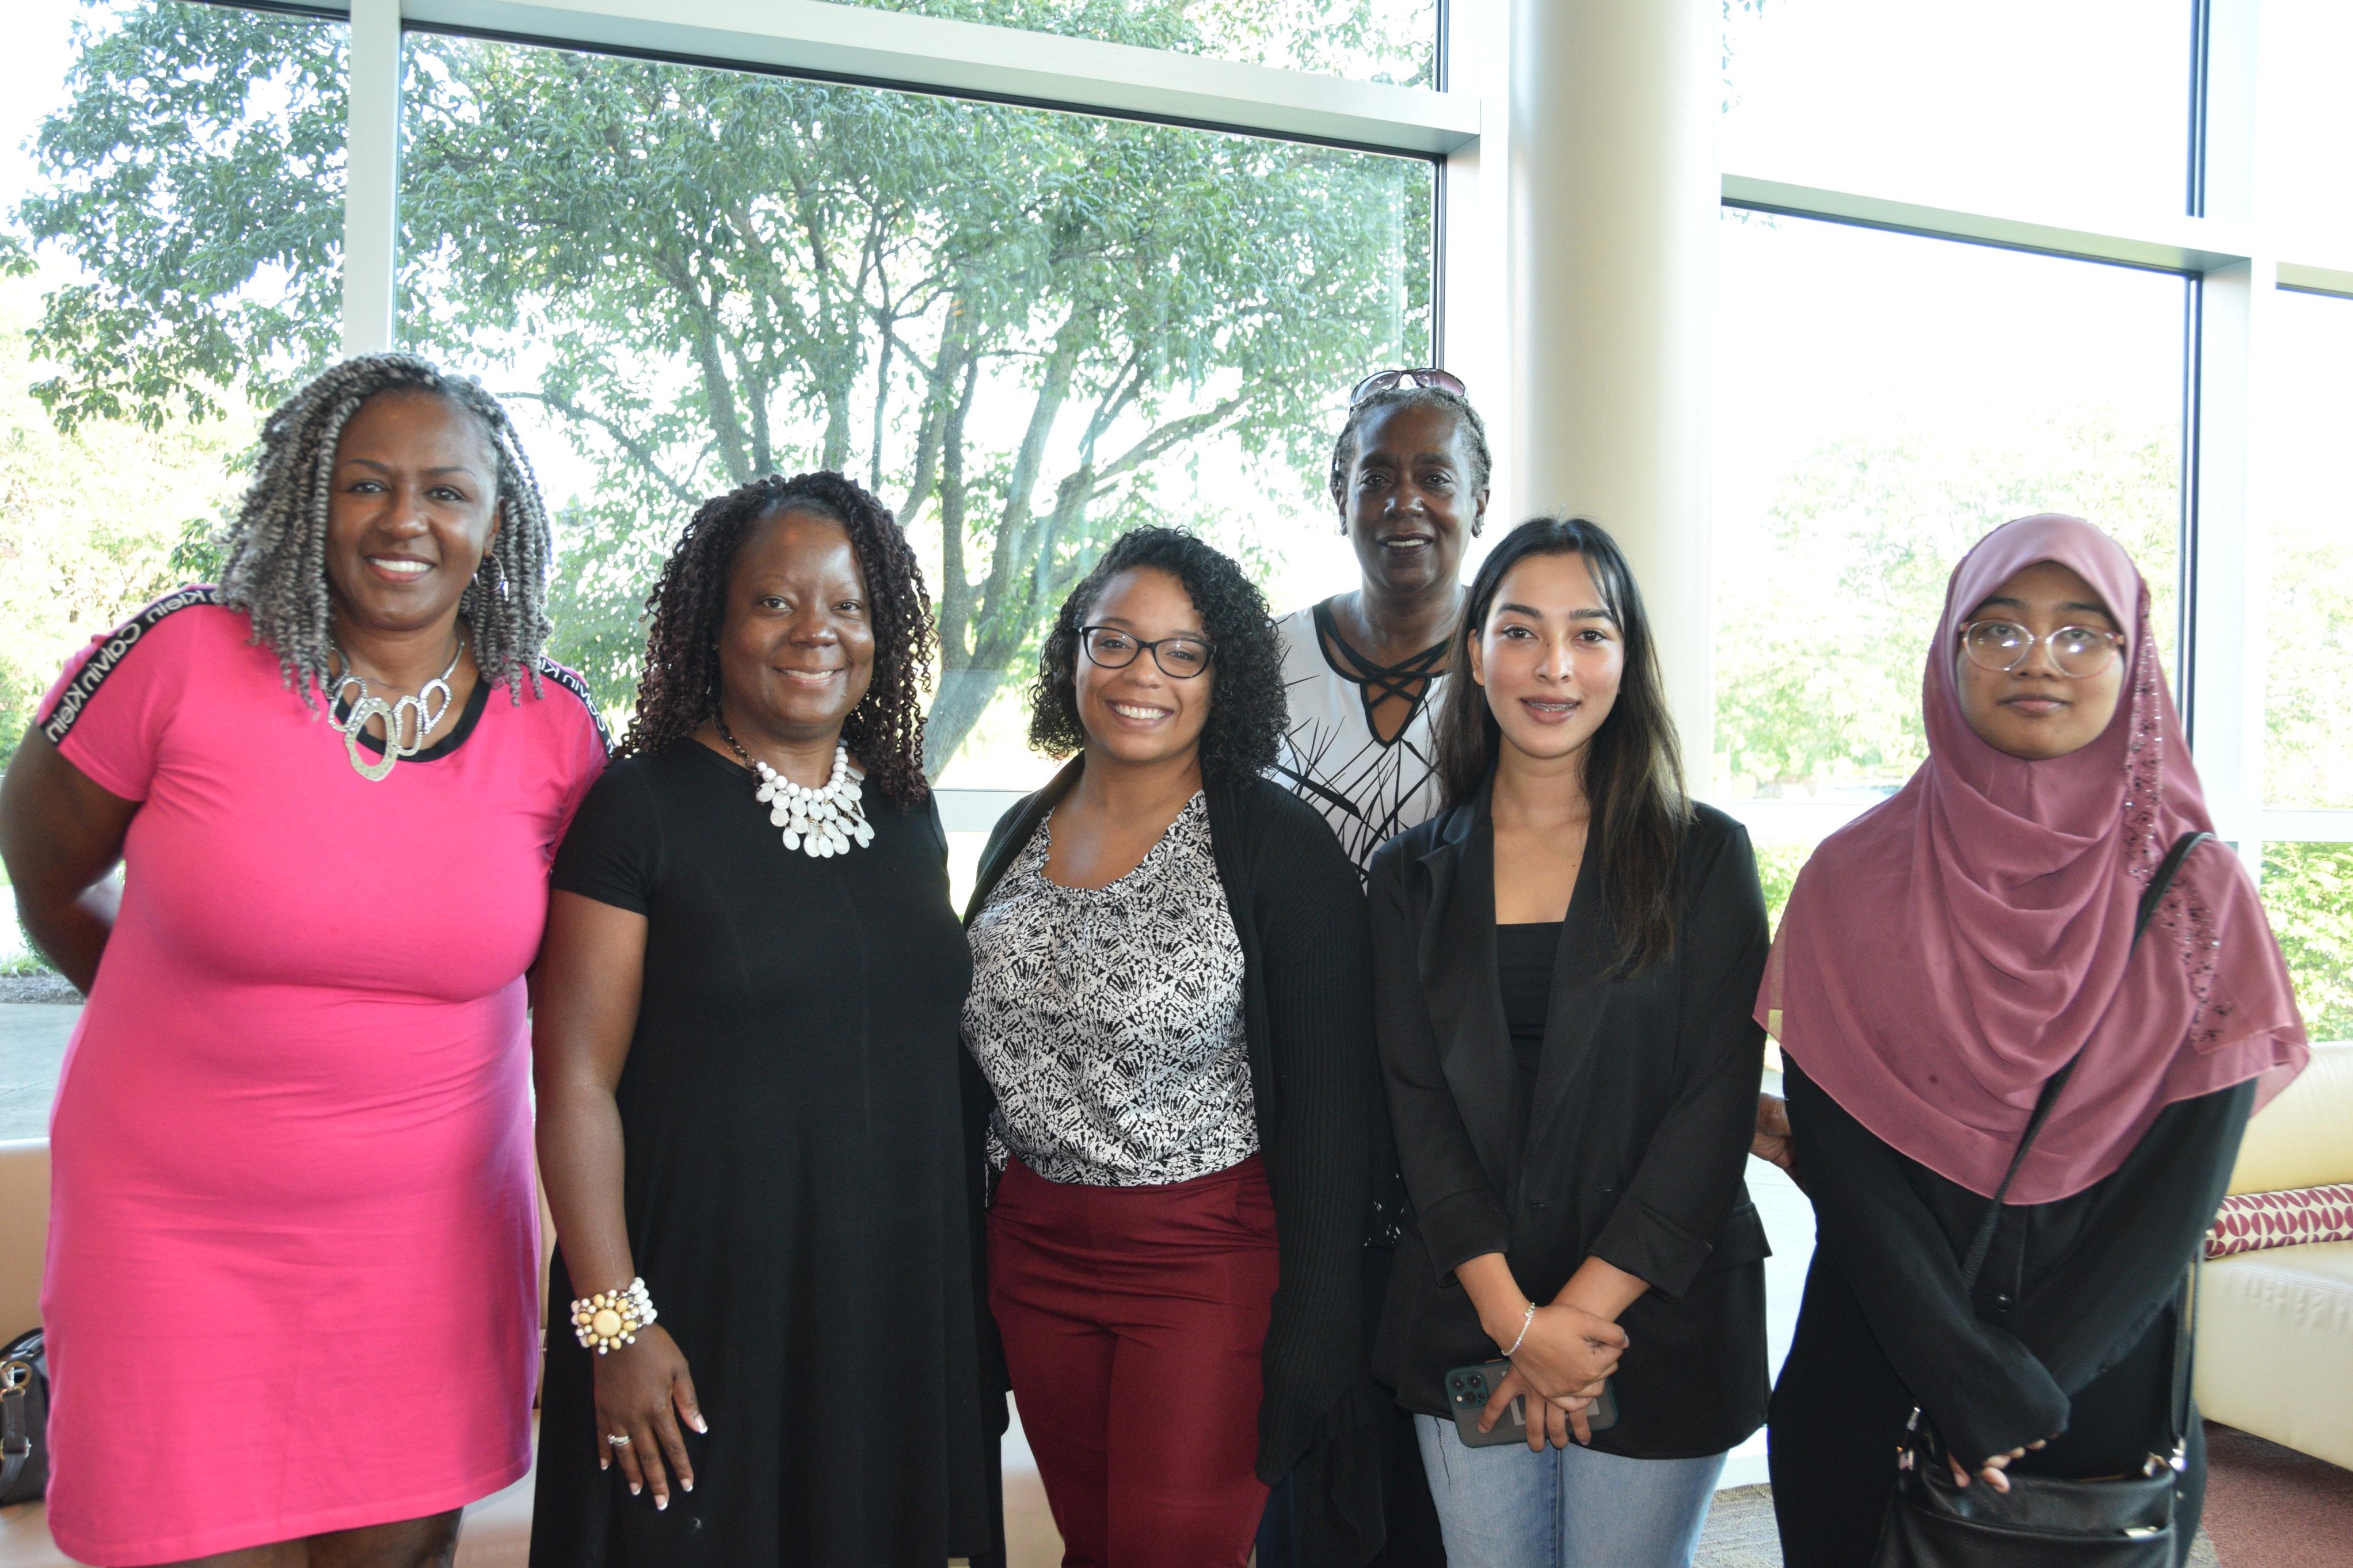
[[[2167,851],[2158,875],[2141,893],[2139,917],[2132,926],[2134,945],[2139,945],[2181,863],[2209,837],[2214,835],[2186,832]],[[2009,1182],[2026,1164],[2026,1150],[2033,1147],[2049,1119],[2052,1103],[2066,1088],[2080,1058],[2080,1051],[2068,1058],[2035,1098],[2035,1112],[2026,1119],[2019,1152],[2009,1157],[2009,1171],[1993,1190],[1993,1204],[1986,1206],[1986,1218],[1977,1227],[1969,1258],[1960,1269],[1962,1295],[1977,1286],[1977,1274],[1986,1267]],[[2007,1476],[2009,1490],[1998,1493],[1984,1481],[1955,1483],[1944,1441],[1927,1418],[1913,1410],[1911,1436],[1897,1460],[1894,1500],[1880,1526],[1878,1554],[1871,1559],[1873,1568],[2174,1568],[2174,1497],[2191,1420],[2191,1347],[2195,1335],[2188,1314],[2195,1309],[2195,1281],[2198,1265],[2193,1262],[2174,1314],[2174,1385],[2167,1403],[2174,1427],[2172,1453],[2153,1453],[2141,1474],[2111,1481],[2066,1481],[2012,1472]]]

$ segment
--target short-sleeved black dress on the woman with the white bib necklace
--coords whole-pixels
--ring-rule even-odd
[[[647,917],[616,1100],[628,1244],[711,1425],[668,1512],[598,1472],[558,1253],[532,1568],[939,1568],[993,1549],[958,1023],[972,983],[932,804],[781,844],[685,743],[614,764],[555,886]],[[605,1288],[612,1281],[581,1281]]]

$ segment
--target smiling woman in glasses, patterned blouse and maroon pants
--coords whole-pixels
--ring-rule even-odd
[[[1280,736],[1259,590],[1136,529],[1040,654],[1078,757],[981,856],[988,1305],[1068,1568],[1240,1568],[1362,1375],[1365,898]]]

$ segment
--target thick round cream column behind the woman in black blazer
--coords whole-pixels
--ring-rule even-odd
[[[1704,792],[1718,7],[1513,0],[1511,16],[1513,494],[1626,545]]]

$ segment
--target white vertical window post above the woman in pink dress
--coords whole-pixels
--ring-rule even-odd
[[[351,0],[344,129],[344,353],[393,346],[400,268],[400,0]]]

